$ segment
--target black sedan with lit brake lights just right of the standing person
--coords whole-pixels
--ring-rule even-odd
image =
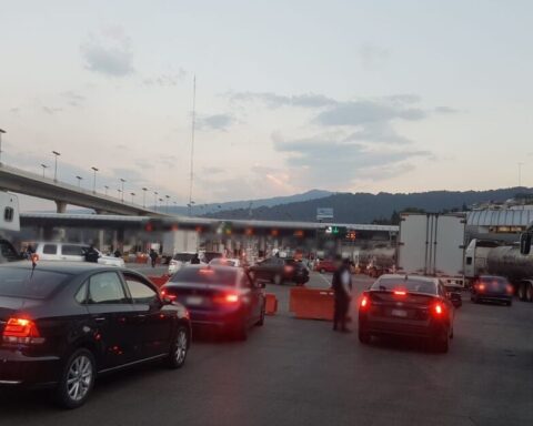
[[[453,304],[438,278],[382,275],[361,297],[359,339],[366,344],[373,335],[410,336],[447,352],[453,318]]]

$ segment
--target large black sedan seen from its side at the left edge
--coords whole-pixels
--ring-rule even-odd
[[[52,386],[81,406],[97,375],[149,361],[181,367],[189,313],[144,276],[84,262],[0,266],[0,385]]]

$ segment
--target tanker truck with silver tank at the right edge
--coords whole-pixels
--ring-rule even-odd
[[[465,251],[469,281],[483,274],[506,277],[521,301],[533,302],[533,224],[514,244],[472,240]]]

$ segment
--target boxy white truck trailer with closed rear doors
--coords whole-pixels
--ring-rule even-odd
[[[464,214],[402,213],[398,241],[399,273],[441,277],[464,286]]]

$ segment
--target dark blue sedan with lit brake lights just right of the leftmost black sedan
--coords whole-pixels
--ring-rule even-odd
[[[172,275],[162,292],[187,306],[193,326],[245,339],[252,325],[264,323],[263,288],[241,267],[188,265]]]

